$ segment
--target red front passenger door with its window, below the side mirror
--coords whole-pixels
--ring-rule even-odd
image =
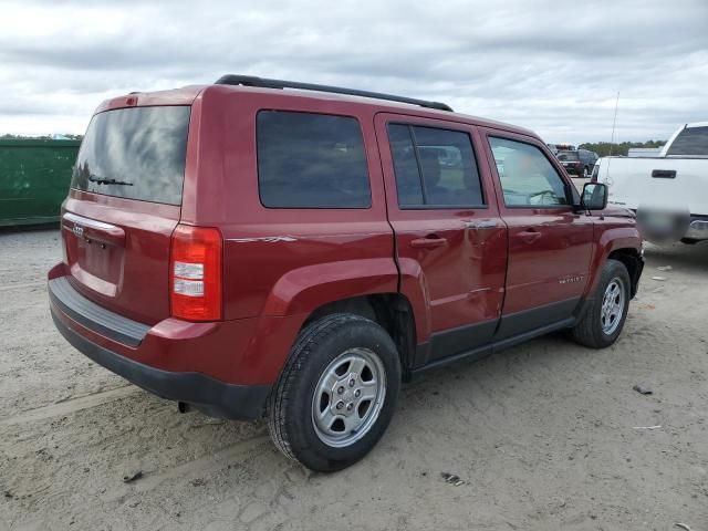
[[[541,142],[494,129],[485,136],[509,227],[502,340],[571,315],[587,283],[593,222],[574,212],[573,184]]]

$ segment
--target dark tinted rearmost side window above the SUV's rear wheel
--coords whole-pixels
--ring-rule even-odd
[[[261,111],[258,183],[270,208],[368,208],[362,129],[356,118]]]

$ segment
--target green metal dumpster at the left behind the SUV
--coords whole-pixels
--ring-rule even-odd
[[[59,220],[80,140],[0,139],[0,227]]]

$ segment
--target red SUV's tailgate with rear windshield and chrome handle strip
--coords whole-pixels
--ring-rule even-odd
[[[169,315],[170,236],[180,218],[190,107],[96,114],[62,208],[75,289],[154,324]]]

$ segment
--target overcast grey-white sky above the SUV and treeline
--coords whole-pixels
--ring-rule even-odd
[[[708,121],[708,0],[0,7],[0,134],[83,133],[104,98],[223,73],[442,101],[546,142],[608,140],[617,92],[617,140]]]

